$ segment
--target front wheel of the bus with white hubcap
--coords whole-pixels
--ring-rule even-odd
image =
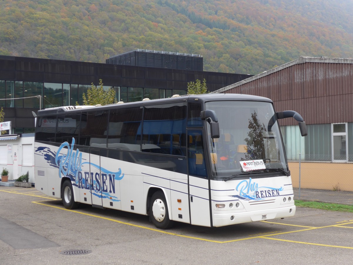
[[[173,220],[169,219],[166,197],[161,190],[158,190],[152,195],[150,216],[156,228],[168,229],[173,225]]]

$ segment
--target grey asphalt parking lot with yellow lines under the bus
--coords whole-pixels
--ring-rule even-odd
[[[294,217],[158,230],[149,217],[0,187],[1,264],[350,264],[353,213],[297,208]],[[90,252],[82,255],[72,254]]]

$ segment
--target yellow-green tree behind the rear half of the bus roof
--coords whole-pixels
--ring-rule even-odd
[[[116,102],[114,89],[110,88],[109,90],[104,90],[102,79],[99,80],[98,85],[99,86],[96,87],[92,83],[87,93],[82,94],[83,105],[95,106],[101,104],[103,106]],[[76,105],[78,105],[78,102],[76,102]]]

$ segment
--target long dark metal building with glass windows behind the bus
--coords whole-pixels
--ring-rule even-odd
[[[214,91],[247,77],[249,75],[234,73],[0,55],[0,99],[5,99],[0,100],[0,106],[4,107],[5,120],[12,122],[12,128],[22,128],[15,133],[29,133],[34,129],[31,111],[39,109],[39,100],[14,100],[16,98],[42,95],[42,108],[75,105],[76,101],[81,104],[82,93],[91,83],[97,85],[102,79],[104,86],[116,91],[118,101],[127,102],[186,94],[187,82],[196,79],[205,78],[208,90]],[[130,99],[136,93],[138,96]]]

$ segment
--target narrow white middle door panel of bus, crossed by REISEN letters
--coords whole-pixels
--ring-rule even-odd
[[[90,149],[89,159],[92,206],[101,208],[103,207],[103,202],[100,151],[98,149]]]

